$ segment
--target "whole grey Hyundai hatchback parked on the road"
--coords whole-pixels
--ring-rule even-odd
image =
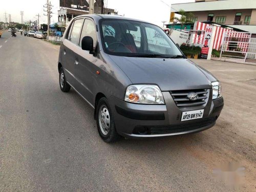
[[[105,142],[206,130],[223,108],[220,82],[158,26],[113,15],[73,18],[60,46],[59,85],[94,108]]]

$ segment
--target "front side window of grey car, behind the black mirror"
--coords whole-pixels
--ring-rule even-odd
[[[90,19],[84,20],[84,23],[82,26],[80,44],[79,44],[80,47],[81,47],[82,38],[85,36],[90,36],[93,38],[93,48],[95,48],[97,44],[96,30],[95,30],[94,23]]]

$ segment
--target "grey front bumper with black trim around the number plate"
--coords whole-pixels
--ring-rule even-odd
[[[162,137],[196,133],[214,126],[224,106],[223,98],[209,99],[204,106],[180,109],[169,92],[164,105],[134,104],[110,98],[118,134],[127,138]],[[204,109],[203,118],[181,121],[182,112]]]

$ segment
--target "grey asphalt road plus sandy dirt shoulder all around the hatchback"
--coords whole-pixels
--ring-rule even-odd
[[[91,106],[60,91],[57,59],[48,42],[0,38],[1,191],[256,190],[256,66],[197,60],[222,82],[225,106],[211,129],[107,144]],[[245,168],[241,184],[218,177],[228,162]]]

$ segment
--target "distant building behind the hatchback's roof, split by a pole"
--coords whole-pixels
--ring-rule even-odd
[[[101,14],[102,12],[103,14],[117,14],[114,9],[104,8],[101,0],[96,0],[94,4],[94,13]],[[89,14],[89,3],[86,0],[78,1],[78,5],[68,3],[63,4],[61,2],[60,10],[58,10],[57,24],[60,28],[66,28],[72,18],[83,14]]]

